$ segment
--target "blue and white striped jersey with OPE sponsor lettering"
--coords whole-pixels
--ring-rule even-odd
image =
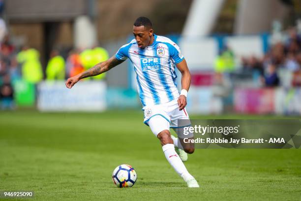
[[[120,47],[118,60],[130,59],[136,72],[139,97],[143,106],[162,104],[179,98],[175,65],[184,57],[171,39],[154,34],[153,43],[141,49],[133,39]]]

